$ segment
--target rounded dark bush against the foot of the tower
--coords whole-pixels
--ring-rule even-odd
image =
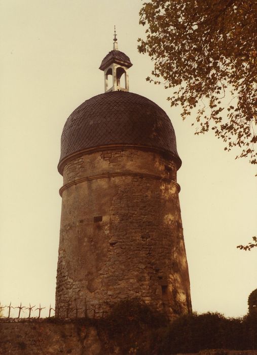
[[[105,334],[107,343],[113,346],[108,348],[110,353],[117,344],[121,355],[150,355],[157,353],[155,348],[166,335],[168,325],[164,314],[139,299],[130,299],[113,305],[111,313],[98,320],[98,331]]]

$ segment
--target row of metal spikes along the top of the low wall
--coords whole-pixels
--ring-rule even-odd
[[[37,307],[37,308],[35,308]],[[45,315],[42,315],[42,311],[45,311]],[[43,307],[41,303],[36,306],[29,303],[29,306],[22,305],[20,303],[18,306],[12,305],[10,302],[9,305],[3,305],[0,303],[0,319],[1,318],[51,318],[56,316],[57,318],[61,316],[61,318],[82,318],[82,317],[90,317],[95,318],[97,316],[104,317],[105,311],[101,311],[100,313],[96,310],[96,305],[90,305],[85,302],[84,307],[78,307],[77,304],[75,306],[71,306],[69,303],[66,308],[59,308],[57,311],[51,306]]]

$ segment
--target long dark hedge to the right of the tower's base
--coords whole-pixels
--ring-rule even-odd
[[[257,317],[225,318],[219,313],[189,314],[169,326],[160,354],[199,352],[204,349],[257,348]]]

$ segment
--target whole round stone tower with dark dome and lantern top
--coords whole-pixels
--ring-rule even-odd
[[[135,297],[170,317],[191,311],[175,133],[156,103],[128,91],[131,65],[115,36],[100,65],[105,93],[82,103],[63,128],[59,317],[68,307],[82,316],[85,305],[100,316]]]

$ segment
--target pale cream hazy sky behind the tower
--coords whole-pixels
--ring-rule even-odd
[[[140,0],[0,0],[0,302],[55,302],[62,176],[60,136],[70,113],[104,92],[103,57],[119,50],[133,66],[130,91],[170,117],[182,160],[177,182],[193,310],[247,313],[257,288],[256,177],[247,159],[224,151],[212,132],[194,135],[194,117],[170,108],[171,92],[145,81],[153,63],[137,51],[144,37]],[[15,315],[16,310],[12,310]],[[46,312],[46,310],[45,310]]]

